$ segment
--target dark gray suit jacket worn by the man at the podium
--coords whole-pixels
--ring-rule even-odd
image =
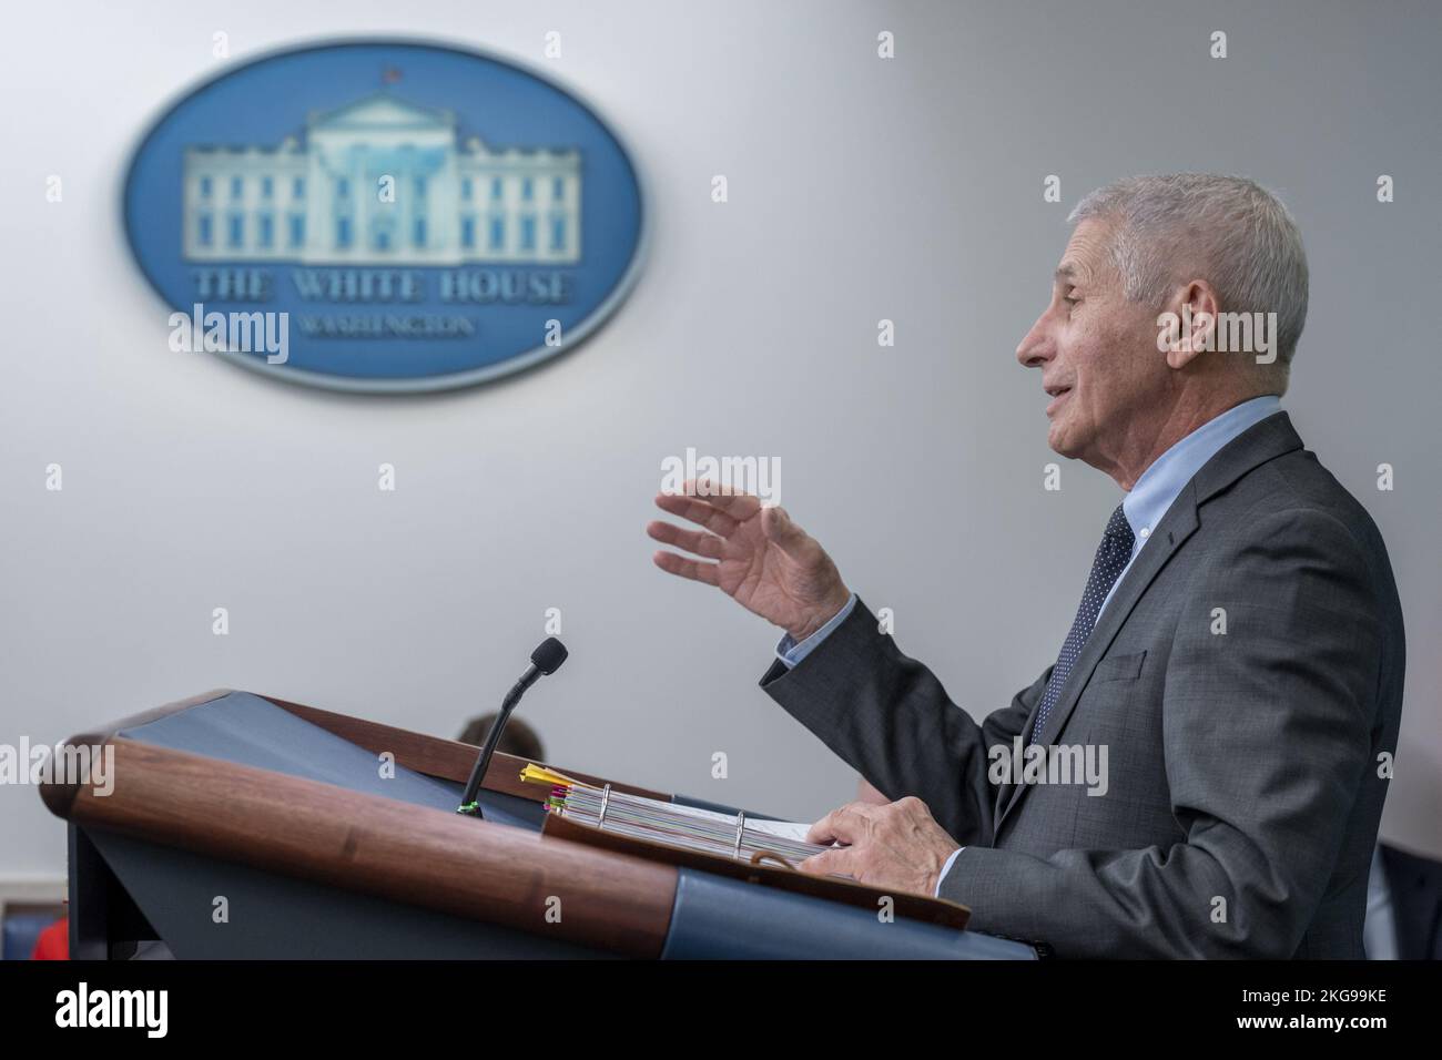
[[[1050,666],[978,724],[861,603],[761,686],[966,847],[942,897],[979,932],[1058,956],[1360,959],[1403,665],[1381,536],[1278,412],[1182,489],[1047,720],[1044,743],[1107,747],[1105,795],[988,779]]]

